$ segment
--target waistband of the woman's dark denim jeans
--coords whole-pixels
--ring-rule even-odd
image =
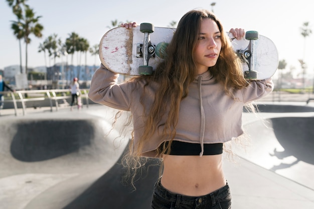
[[[229,185],[228,182],[225,186],[202,196],[187,196],[182,194],[176,194],[172,193],[169,190],[167,190],[161,183],[161,178],[155,183],[155,190],[154,192],[158,194],[160,197],[163,197],[165,199],[168,199],[172,202],[185,202],[187,204],[193,204],[193,203],[199,203],[199,204],[208,204],[212,202],[215,204],[215,199],[217,199],[220,194],[224,194],[225,192],[229,192]]]

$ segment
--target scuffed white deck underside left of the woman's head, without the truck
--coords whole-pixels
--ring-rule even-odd
[[[173,37],[175,29],[154,28],[150,41],[152,45],[161,42],[169,43]],[[108,31],[101,39],[99,46],[99,57],[102,64],[113,72],[138,75],[138,66],[143,65],[143,58],[137,58],[137,44],[143,43],[144,34],[139,31],[139,27],[132,30],[116,28]],[[159,57],[150,58],[149,65],[155,66],[162,59]]]

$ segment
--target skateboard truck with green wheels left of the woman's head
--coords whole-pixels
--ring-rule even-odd
[[[140,51],[142,52],[143,65],[138,67],[138,73],[140,75],[151,75],[152,67],[148,66],[149,59],[155,54],[155,47],[150,43],[149,34],[153,33],[154,26],[150,23],[141,23],[139,31],[144,33],[144,44],[137,45],[137,56],[141,57]]]

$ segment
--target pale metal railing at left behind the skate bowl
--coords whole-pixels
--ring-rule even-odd
[[[87,91],[88,89],[80,89],[80,92],[81,92],[80,96],[82,97],[82,99],[85,98],[86,107],[88,107],[89,105]],[[67,95],[66,93],[70,93],[70,94]],[[18,115],[18,103],[19,102],[22,105],[23,115],[25,115],[26,109],[27,109],[26,102],[44,101],[48,99],[49,104],[50,104],[50,111],[52,112],[54,106],[56,108],[56,111],[58,111],[58,107],[59,107],[58,100],[72,98],[71,91],[69,89],[23,90],[23,91],[15,91],[15,92],[3,91],[3,92],[0,92],[0,94],[3,95],[3,98],[6,94],[11,95],[12,99],[8,99],[7,97],[7,99],[5,100],[3,99],[2,102],[13,103],[16,116]]]

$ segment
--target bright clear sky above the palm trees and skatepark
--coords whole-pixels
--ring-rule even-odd
[[[211,6],[213,2],[216,3],[214,7]],[[139,24],[148,22],[156,27],[167,27],[172,21],[179,22],[189,10],[202,8],[213,9],[226,30],[255,30],[273,40],[279,60],[287,62],[287,69],[294,66],[296,73],[301,72],[298,60],[304,59],[308,73],[312,74],[314,70],[314,34],[306,38],[305,53],[304,38],[300,34],[304,22],[309,22],[314,32],[314,12],[310,0],[29,0],[27,3],[36,16],[42,16],[40,23],[44,26],[43,38],[30,37],[29,67],[45,65],[44,54],[38,53],[38,47],[50,35],[57,34],[64,42],[70,33],[75,32],[93,46],[99,44],[112,20],[135,21]],[[19,42],[13,35],[10,22],[15,20],[7,2],[0,1],[0,69],[19,65],[20,62]],[[22,53],[25,65],[25,44],[22,45]],[[47,63],[49,66],[49,61]],[[83,59],[81,64],[84,63]],[[96,65],[99,63],[96,58]],[[77,64],[75,57],[74,64]],[[87,64],[94,65],[95,57],[88,55]],[[53,65],[52,60],[50,65]]]

